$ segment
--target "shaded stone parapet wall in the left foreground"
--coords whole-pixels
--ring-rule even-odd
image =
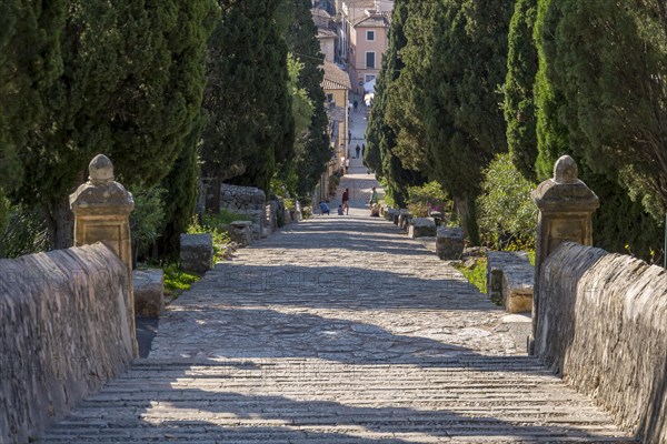
[[[0,260],[0,443],[26,443],[132,360],[126,265],[101,243]]]

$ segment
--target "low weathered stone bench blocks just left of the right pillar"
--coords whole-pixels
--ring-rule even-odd
[[[487,253],[487,294],[510,313],[530,313],[535,269],[524,251]]]

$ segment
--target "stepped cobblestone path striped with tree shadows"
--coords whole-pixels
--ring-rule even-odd
[[[629,442],[520,352],[505,313],[396,228],[315,216],[215,271],[160,320],[150,357],[48,443]]]

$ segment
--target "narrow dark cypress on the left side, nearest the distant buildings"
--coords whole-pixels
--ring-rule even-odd
[[[327,132],[329,121],[323,108],[326,97],[321,87],[325,77],[321,64],[325,57],[320,52],[317,27],[310,13],[311,2],[291,1],[292,20],[287,28],[286,40],[289,51],[303,64],[299,73],[298,87],[306,90],[315,107],[303,141],[303,152],[296,159],[296,171],[299,175],[298,191],[302,195],[308,195],[327,170],[327,162],[332,154]]]

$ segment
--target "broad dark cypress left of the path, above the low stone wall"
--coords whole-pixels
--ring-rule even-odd
[[[222,19],[209,42],[203,173],[269,190],[276,163],[293,149],[287,44],[277,23],[281,0],[219,0]]]

